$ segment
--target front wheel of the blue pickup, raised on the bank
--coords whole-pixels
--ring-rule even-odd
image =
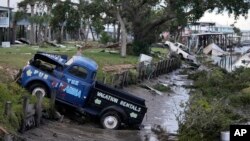
[[[38,92],[41,92],[43,96],[49,97],[48,89],[42,83],[31,84],[28,90],[32,95],[37,95]]]

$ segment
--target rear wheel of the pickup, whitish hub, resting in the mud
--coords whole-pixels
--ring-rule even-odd
[[[101,116],[101,125],[104,129],[116,130],[121,126],[121,118],[117,112],[108,111]]]

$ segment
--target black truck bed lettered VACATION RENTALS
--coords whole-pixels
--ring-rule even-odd
[[[128,124],[141,124],[147,112],[144,99],[100,82],[96,82],[92,88],[88,105],[87,107],[92,107],[96,113],[102,113],[108,107],[118,107],[127,115]]]

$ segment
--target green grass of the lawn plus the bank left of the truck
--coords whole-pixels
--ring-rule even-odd
[[[75,43],[75,42],[74,42]],[[16,84],[10,83],[10,71],[19,70],[23,68],[27,62],[33,57],[37,51],[44,51],[57,54],[65,54],[69,57],[76,53],[74,43],[66,43],[66,48],[55,48],[51,46],[13,46],[11,48],[0,48],[0,125],[9,131],[16,131],[20,125],[20,117],[22,116],[22,101],[21,97],[28,94],[24,89]],[[102,80],[106,75],[102,72],[104,66],[115,64],[136,64],[138,62],[137,56],[127,56],[126,58],[120,57],[119,54],[110,54],[108,52],[101,52],[102,48],[97,48],[98,44],[90,44],[93,48],[83,50],[83,55],[95,60],[99,66],[97,79]],[[165,49],[153,49],[156,51]],[[11,118],[3,116],[4,103],[12,101],[13,114]],[[45,102],[46,104],[46,102]],[[48,104],[47,104],[48,105]]]

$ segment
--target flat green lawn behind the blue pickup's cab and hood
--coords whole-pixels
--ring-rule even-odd
[[[95,45],[95,44],[94,44]],[[66,54],[69,57],[76,53],[76,47],[72,44],[66,44],[66,48],[43,47],[38,46],[14,46],[11,48],[0,48],[0,66],[10,69],[20,69],[26,65],[37,51],[45,51],[50,53]],[[120,57],[119,54],[110,54],[108,52],[101,52],[101,48],[89,48],[83,50],[83,55],[95,60],[99,66],[97,79],[101,80],[103,77],[102,68],[106,65],[115,64],[136,64],[138,57],[127,56]]]

